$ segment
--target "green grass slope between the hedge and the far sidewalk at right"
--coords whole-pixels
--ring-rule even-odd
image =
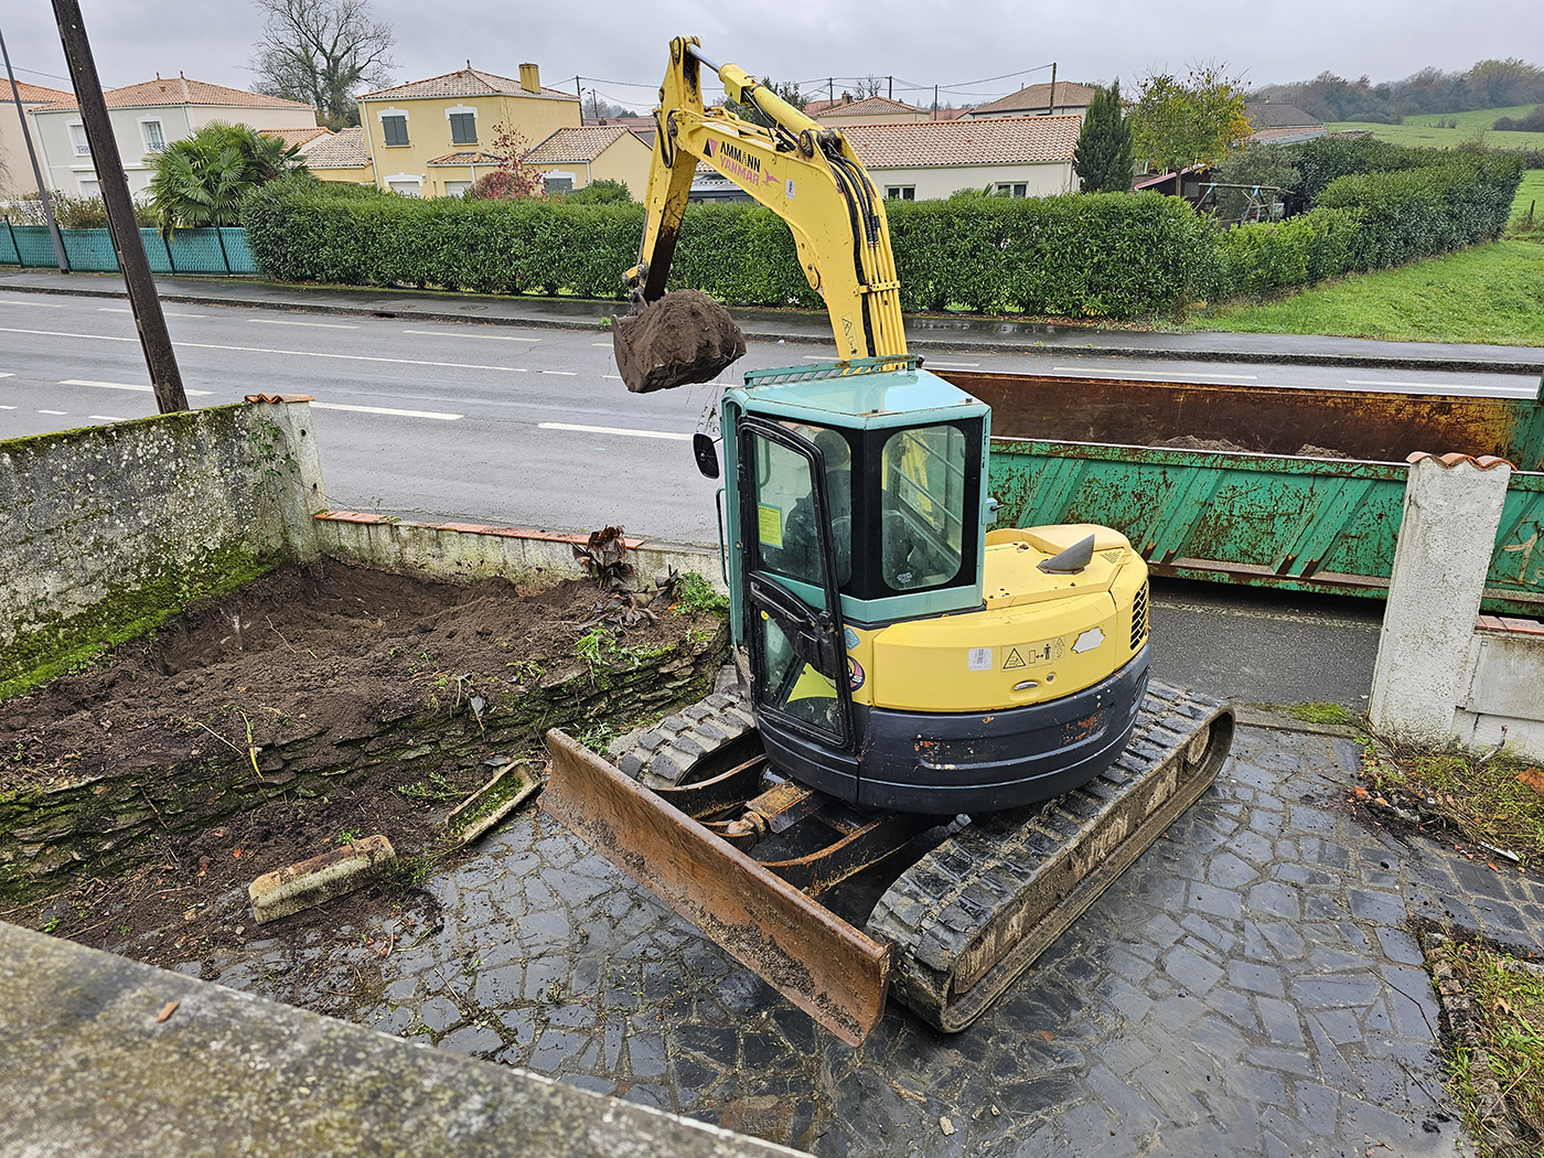
[[[1544,213],[1544,193],[1539,198]],[[1215,315],[1197,317],[1190,327],[1544,346],[1544,244],[1475,245],[1402,269],[1353,275],[1263,306],[1224,306]]]

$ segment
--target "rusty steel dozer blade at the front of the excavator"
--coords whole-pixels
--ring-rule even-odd
[[[891,950],[559,730],[542,811],[849,1045],[885,1010]]]

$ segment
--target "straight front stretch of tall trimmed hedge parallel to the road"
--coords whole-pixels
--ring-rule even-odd
[[[908,310],[1167,312],[1194,301],[1210,264],[1210,222],[1156,193],[889,202],[886,212]],[[284,281],[619,298],[644,208],[310,187],[261,190],[245,219],[259,267]],[[823,306],[794,236],[760,205],[689,205],[670,287]]]

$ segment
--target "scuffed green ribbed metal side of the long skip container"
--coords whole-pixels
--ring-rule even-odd
[[[999,525],[1099,523],[1156,574],[1382,598],[1403,463],[993,438]],[[1544,611],[1544,474],[1515,472],[1488,610]]]

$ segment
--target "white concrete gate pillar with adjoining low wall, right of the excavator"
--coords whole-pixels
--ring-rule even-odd
[[[1510,477],[1501,459],[1411,455],[1368,709],[1379,732],[1544,760],[1544,624],[1479,615]]]

